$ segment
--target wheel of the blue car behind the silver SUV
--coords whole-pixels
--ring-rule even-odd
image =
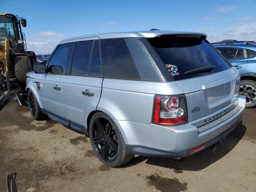
[[[240,82],[239,94],[246,97],[246,108],[256,106],[256,82],[252,80],[242,80]]]

